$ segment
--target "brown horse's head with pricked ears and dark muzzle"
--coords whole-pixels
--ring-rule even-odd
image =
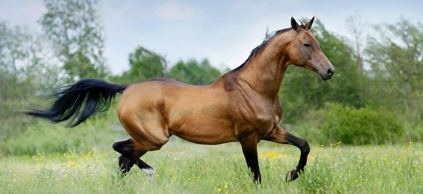
[[[335,67],[329,62],[319,47],[319,42],[309,31],[314,17],[305,25],[299,25],[294,17],[291,17],[293,40],[288,46],[288,57],[291,64],[305,67],[320,75],[322,80],[331,79]]]

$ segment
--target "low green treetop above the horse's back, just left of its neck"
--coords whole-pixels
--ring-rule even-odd
[[[221,75],[222,73],[217,68],[210,65],[209,60],[204,59],[198,63],[195,59],[191,59],[186,63],[183,61],[176,63],[167,77],[194,85],[208,85]]]

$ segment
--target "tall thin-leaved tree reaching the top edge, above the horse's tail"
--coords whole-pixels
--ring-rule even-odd
[[[45,0],[47,13],[39,23],[69,82],[106,77],[103,26],[96,5],[95,0]]]

